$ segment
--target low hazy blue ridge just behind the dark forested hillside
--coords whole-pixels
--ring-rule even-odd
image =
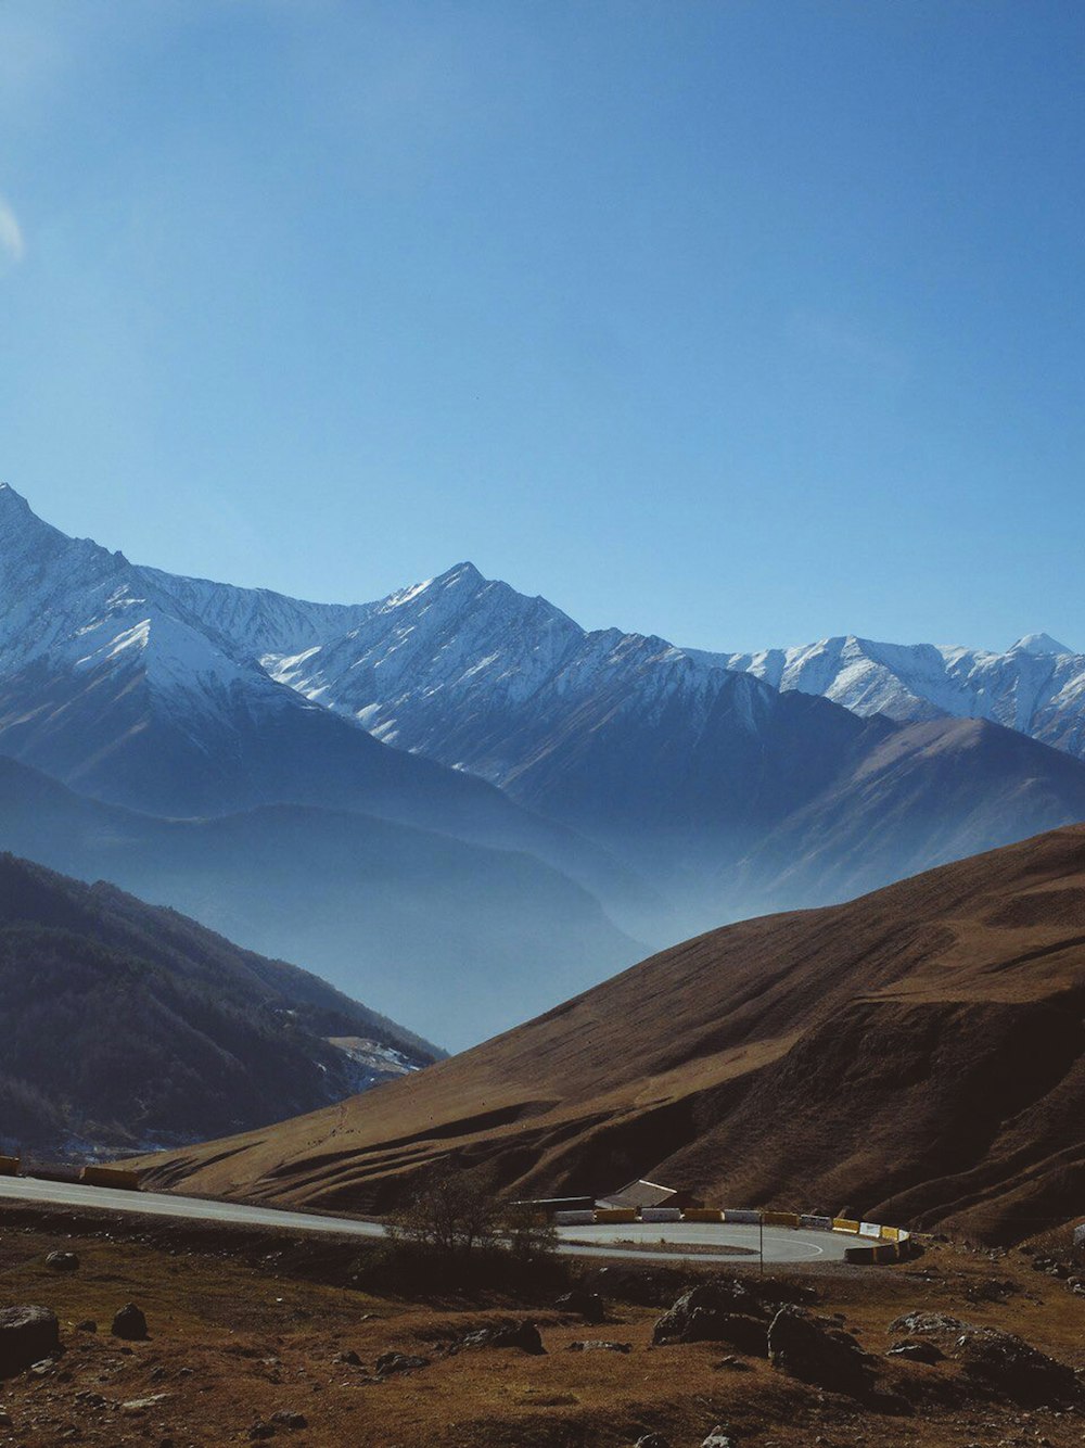
[[[444,1047],[642,954],[593,896],[532,856],[352,811],[156,820],[0,759],[0,847],[304,960]]]

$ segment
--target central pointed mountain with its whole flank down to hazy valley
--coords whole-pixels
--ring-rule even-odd
[[[1047,644],[1026,643],[1018,678],[1047,668]],[[263,663],[621,854],[686,930],[755,902],[839,899],[1085,818],[1085,767],[1042,743],[1016,747],[992,723],[962,731],[926,702],[890,717],[869,681],[846,701],[817,698],[841,675],[813,663],[799,686],[742,672],[738,656],[589,633],[470,563],[369,605],[339,640]]]

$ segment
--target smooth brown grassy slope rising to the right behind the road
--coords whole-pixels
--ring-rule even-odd
[[[647,1174],[731,1203],[1026,1237],[1085,1199],[1085,827],[745,921],[148,1184],[380,1209],[443,1158],[508,1193]]]

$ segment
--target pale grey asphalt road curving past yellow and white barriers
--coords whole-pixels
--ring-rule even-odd
[[[350,1216],[317,1216],[312,1212],[284,1212],[271,1206],[243,1202],[208,1202],[195,1196],[166,1192],[119,1192],[116,1187],[81,1186],[74,1182],[41,1182],[36,1177],[0,1177],[0,1197],[25,1203],[49,1202],[55,1206],[87,1206],[109,1212],[139,1212],[148,1216],[181,1216],[195,1222],[220,1222],[239,1226],[273,1226],[282,1232],[334,1232],[339,1237],[383,1237],[379,1222],[360,1222]],[[715,1222],[629,1222],[600,1226],[560,1226],[561,1251],[576,1257],[629,1257],[637,1261],[676,1261],[683,1247],[696,1247],[693,1261],[726,1261],[732,1266],[757,1260],[758,1228]],[[665,1239],[668,1248],[661,1248]],[[644,1242],[644,1247],[622,1244]],[[655,1250],[651,1245],[654,1244]],[[854,1237],[835,1232],[765,1228],[765,1261],[799,1266],[816,1261],[843,1261]],[[718,1253],[707,1248],[716,1247]],[[731,1251],[728,1251],[731,1248]],[[735,1248],[742,1248],[736,1253]],[[752,1257],[749,1254],[754,1254]]]

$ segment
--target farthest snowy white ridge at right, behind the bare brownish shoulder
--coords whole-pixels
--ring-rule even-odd
[[[820,694],[859,715],[903,724],[984,718],[1085,759],[1085,654],[1049,634],[1005,653],[935,644],[822,639],[761,653],[697,654],[777,689]]]

